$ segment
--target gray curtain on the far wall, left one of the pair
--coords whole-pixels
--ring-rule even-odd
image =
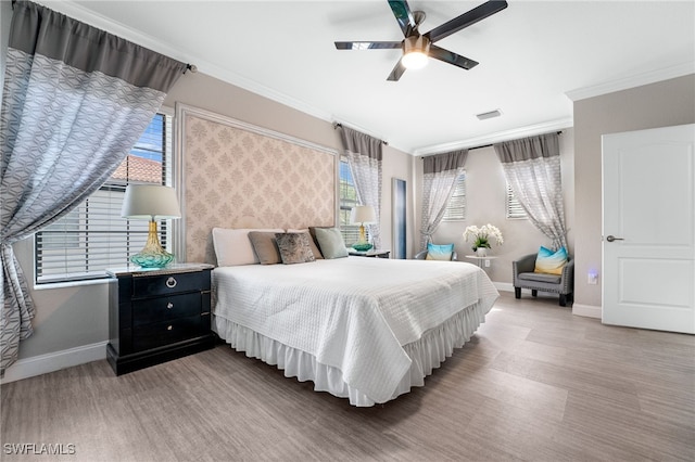
[[[464,172],[468,150],[452,151],[425,157],[422,161],[422,218],[420,251],[427,249],[432,234],[446,211],[446,204],[456,188],[456,178]]]

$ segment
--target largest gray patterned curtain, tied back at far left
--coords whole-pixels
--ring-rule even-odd
[[[0,375],[35,312],[12,244],[99,189],[186,70],[36,3],[13,8],[0,110]]]

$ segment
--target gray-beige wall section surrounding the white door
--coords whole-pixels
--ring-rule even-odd
[[[695,75],[574,102],[576,310],[602,307],[601,274],[586,283],[602,262],[602,134],[693,123]]]

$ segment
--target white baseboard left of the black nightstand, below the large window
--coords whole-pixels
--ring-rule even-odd
[[[104,341],[97,344],[64,349],[62,351],[20,359],[4,371],[4,377],[0,380],[0,384],[21,381],[22,378],[105,359],[108,343],[109,342]]]

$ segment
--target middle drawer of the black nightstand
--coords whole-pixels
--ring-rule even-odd
[[[137,328],[153,322],[200,316],[201,306],[200,292],[137,300],[132,303],[132,325]]]

